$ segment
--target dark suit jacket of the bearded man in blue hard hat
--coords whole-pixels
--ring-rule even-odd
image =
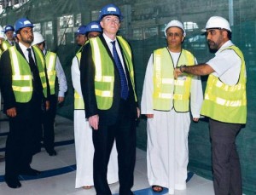
[[[15,47],[18,50],[18,52],[20,52],[20,54],[22,54],[23,57],[26,59],[25,55],[20,49],[19,44],[16,44]],[[1,93],[3,95],[3,100],[4,100],[3,112],[6,112],[6,110],[8,110],[9,108],[16,107],[17,114],[19,114],[19,116],[21,115],[21,116],[24,116],[25,118],[34,117],[32,111],[35,109],[34,107],[35,100],[33,99],[35,98],[39,99],[36,101],[45,100],[43,91],[42,91],[42,95],[37,96],[35,98],[33,98],[32,96],[32,100],[30,100],[27,103],[16,102],[15,94],[12,89],[12,66],[11,66],[11,61],[9,56],[9,50],[4,51],[0,59],[0,87],[1,87]]]

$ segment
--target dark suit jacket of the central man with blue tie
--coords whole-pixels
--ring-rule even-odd
[[[110,58],[113,60],[113,55],[111,51],[108,49],[108,44],[106,43],[103,36],[100,36],[103,45],[108,51]],[[121,49],[121,53],[123,55],[124,63],[125,63],[125,56]],[[114,64],[113,60],[113,64]],[[103,65],[105,66],[105,65]],[[106,66],[109,66],[106,64]],[[112,65],[110,65],[112,66]],[[130,110],[122,111],[122,112],[131,112],[131,118],[137,118],[137,102],[134,98],[134,92],[131,86],[131,77],[125,65],[125,72],[126,77],[128,79],[128,86],[129,86],[129,104]],[[112,124],[115,123],[116,118],[119,115],[119,102],[120,102],[120,78],[119,78],[119,71],[114,66],[114,84],[113,84],[113,105],[108,110],[99,110],[96,105],[96,95],[95,95],[95,86],[94,86],[94,78],[95,78],[95,65],[92,60],[91,48],[90,43],[87,43],[84,46],[82,51],[81,61],[80,61],[80,75],[81,75],[81,88],[84,97],[84,104],[85,104],[85,117],[90,118],[93,115],[99,114],[100,121],[102,123]]]

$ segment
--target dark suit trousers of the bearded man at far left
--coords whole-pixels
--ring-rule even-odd
[[[35,108],[36,110],[36,108]],[[32,156],[38,146],[38,129],[40,124],[40,106],[33,111],[33,117],[20,116],[9,118],[9,135],[5,150],[5,178],[15,178],[20,171],[30,168]]]

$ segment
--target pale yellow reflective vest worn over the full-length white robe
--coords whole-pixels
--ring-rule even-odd
[[[189,112],[189,97],[191,76],[186,74],[175,80],[173,77],[173,62],[169,49],[154,50],[154,93],[153,108],[160,111]],[[177,62],[181,65],[192,66],[195,58],[189,51],[182,49]]]

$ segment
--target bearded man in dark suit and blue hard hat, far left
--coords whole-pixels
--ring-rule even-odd
[[[44,55],[33,41],[32,22],[15,22],[19,43],[3,52],[0,60],[0,86],[3,111],[9,117],[9,135],[5,152],[5,182],[20,187],[18,175],[39,175],[32,169],[36,138],[40,128],[41,106],[47,97]],[[46,104],[46,109],[49,105]]]

